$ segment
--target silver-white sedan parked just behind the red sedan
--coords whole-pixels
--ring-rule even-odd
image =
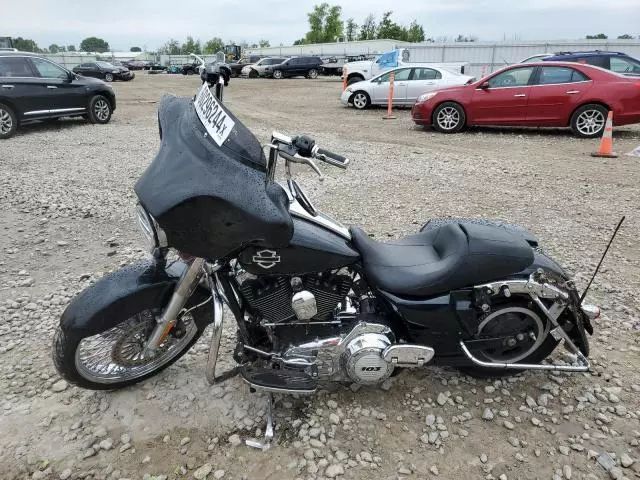
[[[389,100],[389,78],[393,82],[393,104],[413,105],[425,92],[447,85],[464,85],[475,80],[468,75],[437,67],[399,67],[382,73],[371,80],[349,85],[340,96],[344,105],[352,104],[359,110],[369,105],[387,105]]]

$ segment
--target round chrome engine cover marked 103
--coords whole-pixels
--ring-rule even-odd
[[[342,354],[349,378],[362,384],[375,384],[389,378],[393,365],[383,358],[383,353],[390,346],[389,337],[380,333],[365,333],[351,340]]]

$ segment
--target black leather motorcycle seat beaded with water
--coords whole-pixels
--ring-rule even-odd
[[[504,278],[533,262],[521,236],[487,225],[450,223],[389,243],[351,228],[366,279],[389,293],[428,297]]]

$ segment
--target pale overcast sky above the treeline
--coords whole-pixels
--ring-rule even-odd
[[[307,31],[306,13],[319,0],[0,0],[0,36],[78,45],[104,38],[114,50],[153,50],[173,37],[203,42],[218,36],[249,43],[262,38],[290,45]],[[393,19],[415,19],[431,37],[462,33],[480,40],[558,40],[588,33],[640,34],[640,0],[367,0],[329,1],[357,23],[393,10]]]

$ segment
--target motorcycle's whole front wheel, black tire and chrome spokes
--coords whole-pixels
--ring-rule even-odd
[[[189,303],[187,311],[193,306]],[[56,369],[68,382],[91,390],[124,388],[156,375],[187,353],[207,325],[198,309],[182,314],[160,348],[145,353],[163,306],[141,305],[138,313],[95,335],[58,327],[53,339]]]

